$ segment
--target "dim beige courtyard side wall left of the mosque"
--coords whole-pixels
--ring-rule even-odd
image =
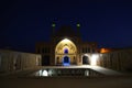
[[[41,55],[0,50],[0,72],[22,70],[41,66]]]

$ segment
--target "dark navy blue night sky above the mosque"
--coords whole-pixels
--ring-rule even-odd
[[[132,46],[131,0],[4,0],[0,2],[0,47],[34,52],[56,28],[80,22],[84,41],[102,47]]]

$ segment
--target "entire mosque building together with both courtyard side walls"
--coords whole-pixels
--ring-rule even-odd
[[[0,72],[23,70],[44,66],[101,66],[132,72],[132,48],[98,50],[97,42],[84,42],[79,26],[55,30],[48,42],[35,44],[35,54],[0,50]]]

